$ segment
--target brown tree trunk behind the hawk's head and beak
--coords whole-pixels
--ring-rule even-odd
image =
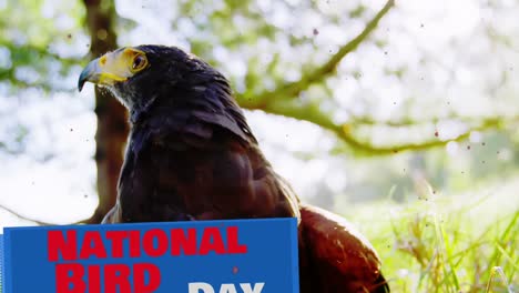
[[[116,48],[113,31],[115,8],[113,0],[83,0],[86,26],[91,36],[90,52],[99,57]],[[99,205],[89,223],[100,223],[116,200],[119,173],[129,132],[126,111],[108,91],[95,87],[95,163],[98,166]]]

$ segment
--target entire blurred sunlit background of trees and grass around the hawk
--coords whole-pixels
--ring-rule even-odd
[[[373,240],[395,292],[511,292],[518,14],[513,0],[0,0],[0,226],[100,220],[128,125],[106,93],[77,92],[79,72],[161,43],[232,81],[275,169]]]

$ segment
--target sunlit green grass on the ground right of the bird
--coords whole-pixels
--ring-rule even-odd
[[[345,206],[393,292],[519,292],[519,184]],[[391,191],[393,192],[393,191]]]

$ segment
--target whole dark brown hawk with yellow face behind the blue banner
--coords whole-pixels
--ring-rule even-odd
[[[111,91],[131,124],[103,223],[297,218],[302,293],[389,292],[369,242],[273,170],[208,63],[175,47],[125,47],[91,61],[80,91],[88,81]]]

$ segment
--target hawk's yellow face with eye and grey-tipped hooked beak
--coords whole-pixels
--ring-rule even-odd
[[[121,48],[92,60],[81,72],[78,89],[86,81],[100,85],[113,85],[133,77],[149,65],[146,54],[134,48]]]

